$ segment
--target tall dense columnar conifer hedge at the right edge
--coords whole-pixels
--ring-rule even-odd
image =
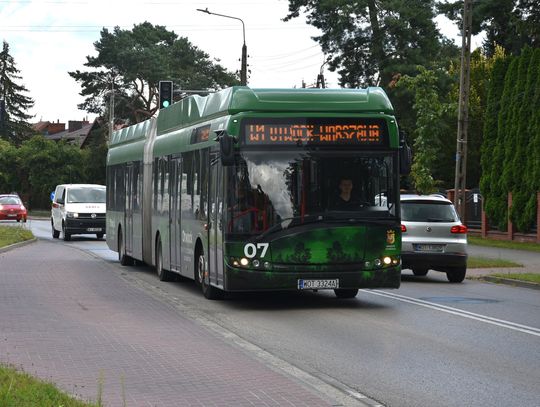
[[[486,109],[481,189],[491,224],[506,229],[508,216],[527,232],[536,221],[540,190],[540,50],[494,65]],[[503,86],[504,84],[504,86]],[[496,124],[495,124],[496,123]],[[507,211],[507,194],[512,207]]]

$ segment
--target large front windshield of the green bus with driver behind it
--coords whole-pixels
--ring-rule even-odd
[[[395,165],[390,152],[243,152],[229,173],[227,231],[260,235],[290,222],[395,220]]]

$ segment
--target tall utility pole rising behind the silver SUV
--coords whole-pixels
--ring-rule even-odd
[[[469,122],[469,82],[471,65],[472,0],[465,0],[461,38],[461,72],[459,77],[459,111],[456,146],[454,205],[465,222],[467,178],[467,125]]]

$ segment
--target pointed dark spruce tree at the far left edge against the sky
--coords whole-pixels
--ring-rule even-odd
[[[32,116],[26,111],[34,101],[24,95],[28,89],[17,83],[21,79],[15,60],[9,53],[9,44],[4,41],[0,52],[0,99],[5,103],[0,137],[19,144],[31,131],[27,120]]]

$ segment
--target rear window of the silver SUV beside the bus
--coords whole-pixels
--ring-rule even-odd
[[[401,220],[407,222],[456,222],[454,205],[437,201],[401,201]]]

